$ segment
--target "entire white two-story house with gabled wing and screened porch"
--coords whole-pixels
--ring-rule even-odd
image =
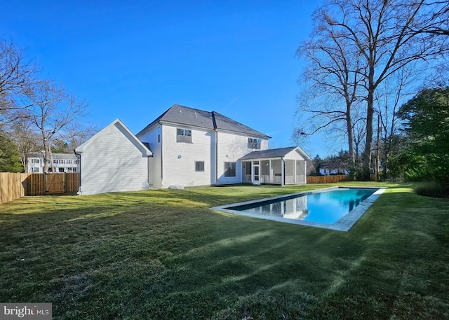
[[[148,186],[306,183],[309,156],[297,146],[268,149],[269,139],[215,111],[178,104],[135,135],[117,119],[76,148],[81,156],[80,192],[142,190]],[[98,161],[98,155],[105,152],[107,165]],[[107,179],[98,176],[100,163],[107,167]],[[97,176],[92,177],[95,173]],[[122,183],[125,176],[128,183]],[[95,183],[98,186],[94,188]],[[105,183],[117,186],[105,188]]]

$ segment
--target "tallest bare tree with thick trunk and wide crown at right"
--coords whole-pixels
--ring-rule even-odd
[[[444,3],[445,4],[445,3]],[[398,70],[415,62],[428,62],[448,52],[447,41],[429,20],[438,1],[405,0],[329,0],[319,9],[320,28],[342,34],[346,60],[358,61],[366,102],[366,141],[363,151],[363,179],[369,179],[373,143],[375,95],[380,84]],[[445,10],[435,10],[436,16]],[[438,20],[443,24],[443,20]],[[427,32],[424,32],[427,31]],[[323,36],[326,36],[323,34]],[[335,46],[335,48],[338,48]],[[342,87],[343,88],[343,87]],[[343,90],[343,89],[342,89]]]

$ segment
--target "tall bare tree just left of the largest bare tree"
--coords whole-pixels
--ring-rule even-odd
[[[363,74],[361,55],[347,41],[347,32],[328,23],[325,8],[319,8],[313,18],[316,27],[311,39],[304,41],[296,53],[309,62],[303,71],[302,80],[306,87],[298,99],[299,112],[311,115],[302,121],[297,132],[311,135],[319,130],[335,132],[341,129],[347,137],[349,158],[354,166],[352,113],[363,80],[360,76]]]

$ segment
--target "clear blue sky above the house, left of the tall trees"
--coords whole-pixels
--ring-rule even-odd
[[[139,132],[173,104],[290,139],[303,63],[295,50],[322,1],[2,1],[0,37],[89,103],[99,128]],[[312,157],[340,150],[320,137]]]

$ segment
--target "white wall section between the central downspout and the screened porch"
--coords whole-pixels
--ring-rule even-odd
[[[247,135],[232,134],[229,132],[218,132],[218,146],[217,146],[217,176],[218,184],[226,183],[241,183],[242,182],[242,168],[241,162],[237,161],[255,151],[256,149],[248,148]],[[262,139],[260,143],[260,150],[267,150],[268,140]],[[225,162],[236,162],[236,176],[225,176]]]

